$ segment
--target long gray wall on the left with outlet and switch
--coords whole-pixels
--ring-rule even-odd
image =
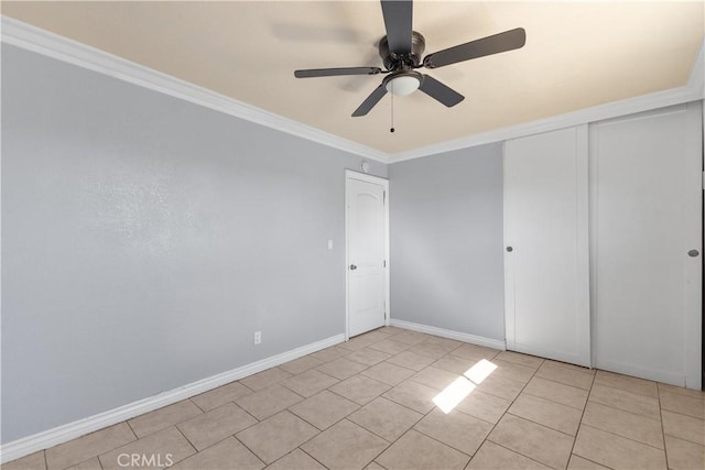
[[[2,45],[2,442],[344,332],[359,163]]]

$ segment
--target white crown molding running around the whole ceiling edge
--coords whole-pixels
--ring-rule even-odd
[[[556,129],[601,121],[605,119],[617,118],[657,108],[664,108],[673,105],[681,105],[705,98],[704,41],[695,63],[693,64],[688,81],[682,87],[585,108],[546,119],[524,122],[459,139],[453,139],[446,142],[412,149],[404,152],[388,154],[367,145],[324,132],[311,125],[293,121],[273,112],[265,111],[252,105],[226,97],[225,95],[217,94],[197,85],[189,84],[188,81],[178,79],[171,75],[153,70],[143,65],[135,64],[22,21],[9,17],[0,18],[0,25],[2,30],[1,40],[6,44],[22,47],[24,50],[77,65],[99,74],[108,75],[133,85],[204,106],[236,118],[387,164],[452,152],[487,143],[501,142],[508,139],[549,132]]]

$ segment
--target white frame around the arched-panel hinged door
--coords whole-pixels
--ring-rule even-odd
[[[390,309],[390,289],[389,289],[389,272],[390,272],[390,260],[389,260],[389,179],[382,178],[379,176],[372,176],[365,173],[354,172],[352,170],[345,171],[345,340],[350,339],[350,280],[349,274],[350,270],[348,266],[350,265],[349,258],[349,242],[348,242],[348,230],[350,227],[349,216],[350,208],[348,205],[348,182],[351,179],[371,183],[376,185],[382,186],[384,190],[384,260],[387,261],[387,267],[384,269],[384,325],[390,325],[391,319],[391,309]]]

